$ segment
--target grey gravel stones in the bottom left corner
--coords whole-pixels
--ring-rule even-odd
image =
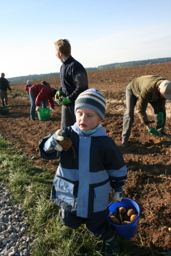
[[[27,256],[31,254],[34,236],[28,236],[26,213],[15,204],[5,184],[0,183],[0,255]]]

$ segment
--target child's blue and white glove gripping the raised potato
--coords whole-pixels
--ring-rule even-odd
[[[64,140],[63,136],[60,136],[60,133],[62,132],[62,129],[59,129],[58,131],[56,131],[51,137],[50,139],[47,140],[46,143],[46,151],[51,151],[52,149],[56,149],[57,151],[62,151],[63,148],[61,147],[61,145],[58,144],[58,140],[62,141]]]

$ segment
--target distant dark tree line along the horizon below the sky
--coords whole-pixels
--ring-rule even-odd
[[[145,65],[152,65],[152,64],[161,64],[161,63],[167,63],[171,62],[171,58],[158,58],[158,59],[147,59],[147,60],[136,60],[132,62],[120,62],[120,63],[112,63],[112,64],[106,64],[101,65],[97,67],[88,67],[85,68],[87,72],[93,72],[93,71],[102,71],[102,70],[111,70],[114,68],[124,68],[124,67],[135,67],[135,66],[145,66]],[[40,75],[27,75],[27,76],[17,76],[15,78],[8,78],[10,84],[16,84],[16,83],[23,83],[27,82],[27,80],[35,81],[35,80],[43,80],[48,78],[55,78],[60,76],[59,72],[55,73],[48,73],[48,74],[40,74]]]

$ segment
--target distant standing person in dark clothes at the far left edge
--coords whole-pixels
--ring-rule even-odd
[[[8,96],[7,96],[7,89],[12,92],[8,80],[5,78],[5,74],[1,73],[0,78],[0,96],[1,96],[1,102],[2,106],[5,107],[8,105]]]

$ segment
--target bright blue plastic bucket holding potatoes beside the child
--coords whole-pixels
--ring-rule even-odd
[[[135,237],[135,235],[138,233],[139,231],[139,217],[140,217],[140,207],[139,205],[129,199],[129,198],[123,198],[121,200],[121,202],[111,202],[111,204],[109,204],[109,217],[111,216],[111,213],[113,212],[117,212],[117,208],[118,207],[125,207],[126,209],[131,208],[134,209],[136,211],[137,214],[137,218],[135,221],[132,221],[130,224],[127,225],[116,225],[113,224],[110,220],[109,222],[112,224],[112,226],[114,227],[116,233],[124,239],[130,239],[132,237]]]

